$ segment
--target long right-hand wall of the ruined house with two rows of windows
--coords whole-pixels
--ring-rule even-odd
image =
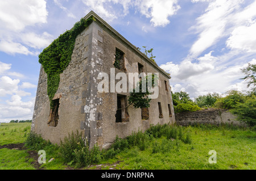
[[[156,68],[154,63],[148,62],[146,58],[138,54],[133,47],[122,42],[121,39],[117,39],[112,33],[108,30],[103,29],[102,33],[102,47],[103,54],[101,71],[108,73],[109,78],[111,75],[110,69],[114,69],[114,76],[117,73],[125,74],[127,77],[127,85],[129,85],[129,73],[138,73],[138,63],[143,66],[144,73],[159,73],[159,95],[156,99],[151,99],[150,107],[148,108],[148,116],[142,119],[142,111],[147,115],[147,110],[142,110],[141,108],[134,108],[132,105],[127,108],[127,112],[129,113],[129,121],[123,121],[116,123],[115,122],[115,112],[117,111],[117,94],[129,96],[129,92],[102,92],[98,93],[103,99],[102,105],[98,107],[98,111],[102,112],[102,133],[104,145],[103,147],[108,147],[111,144],[115,137],[126,137],[129,136],[132,132],[136,132],[138,130],[145,131],[150,128],[150,125],[155,124],[165,124],[165,123],[175,123],[175,115],[174,109],[172,106],[172,98],[171,98],[171,89],[169,78],[161,73],[159,69]],[[115,61],[115,50],[119,49],[124,53],[124,62],[125,70],[119,70],[114,68]],[[115,80],[115,85],[120,81],[120,79]],[[166,83],[164,82],[166,81]],[[166,85],[166,86],[165,86]],[[110,87],[110,85],[109,85]],[[128,88],[128,86],[127,86]],[[158,103],[161,103],[162,106],[162,115],[163,117],[159,117],[159,108]],[[171,116],[168,109],[168,104],[171,106]]]

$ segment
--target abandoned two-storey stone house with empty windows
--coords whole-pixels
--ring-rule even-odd
[[[67,68],[60,74],[59,87],[50,107],[47,74],[40,68],[31,131],[59,144],[72,131],[82,132],[92,147],[107,148],[115,137],[126,137],[151,124],[174,123],[169,74],[132,45],[93,11],[94,21],[76,37]],[[114,66],[119,54],[119,65]],[[159,95],[150,107],[127,106],[129,92],[98,91],[99,73],[159,73]],[[119,80],[115,79],[115,83]],[[111,80],[110,80],[111,82]],[[104,87],[105,88],[105,87]],[[118,110],[123,108],[122,110]]]

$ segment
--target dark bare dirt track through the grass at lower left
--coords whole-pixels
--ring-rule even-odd
[[[7,148],[7,149],[14,149],[14,150],[27,150],[26,147],[24,147],[24,143],[21,144],[8,144],[8,145],[0,145],[0,149]],[[31,164],[35,167],[36,170],[43,170],[40,168],[40,164],[38,163],[38,153],[33,150],[27,150],[27,153],[30,154],[29,158],[32,158],[34,161],[31,162]]]

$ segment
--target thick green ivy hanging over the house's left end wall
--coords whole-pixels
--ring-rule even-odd
[[[82,18],[75,23],[71,30],[67,30],[39,54],[39,63],[42,64],[47,73],[47,95],[53,106],[52,98],[55,95],[60,82],[60,74],[63,73],[71,61],[77,35],[85,30],[92,21],[96,19],[91,16],[88,19]]]

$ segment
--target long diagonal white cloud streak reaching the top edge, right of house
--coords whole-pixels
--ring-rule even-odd
[[[230,23],[230,16],[240,8],[242,1],[216,0],[209,2],[205,13],[196,19],[191,30],[199,33],[199,38],[192,45],[190,53],[199,56],[205,49],[226,35],[225,29]]]

